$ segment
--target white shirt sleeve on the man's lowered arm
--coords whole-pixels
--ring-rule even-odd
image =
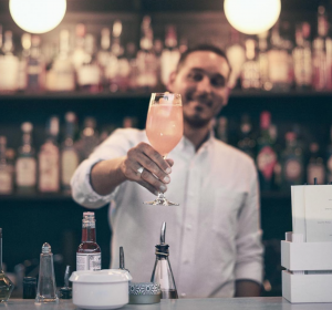
[[[239,214],[236,280],[252,280],[262,283],[262,254],[260,229],[260,203],[257,170],[252,163],[249,174],[249,193]]]

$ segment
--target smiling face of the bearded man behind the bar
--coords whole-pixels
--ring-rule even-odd
[[[195,51],[170,76],[169,91],[183,97],[184,120],[193,127],[206,126],[227,104],[228,62],[211,51]]]

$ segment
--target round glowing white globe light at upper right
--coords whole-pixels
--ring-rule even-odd
[[[225,0],[224,11],[238,31],[258,34],[269,30],[281,11],[280,0]]]

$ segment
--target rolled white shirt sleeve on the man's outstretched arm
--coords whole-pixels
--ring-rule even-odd
[[[117,186],[108,195],[98,195],[91,186],[90,174],[96,163],[127,154],[127,151],[134,146],[128,140],[128,131],[129,130],[115,131],[95,148],[87,159],[80,164],[71,179],[72,197],[77,204],[87,208],[100,208],[111,203],[111,200],[115,199],[116,195],[118,195],[123,184]]]

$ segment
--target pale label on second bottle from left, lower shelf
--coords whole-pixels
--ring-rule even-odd
[[[34,186],[37,163],[34,158],[19,158],[17,161],[17,185]]]

